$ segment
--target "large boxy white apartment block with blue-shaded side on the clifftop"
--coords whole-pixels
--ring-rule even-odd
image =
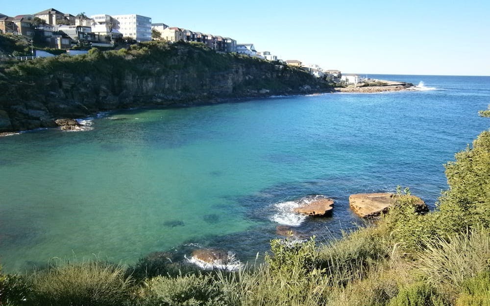
[[[134,38],[138,42],[151,40],[151,18],[136,14],[112,15],[119,23],[123,37]]]

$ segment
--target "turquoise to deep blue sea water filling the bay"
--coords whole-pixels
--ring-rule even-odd
[[[332,217],[294,227],[320,239],[360,222],[351,193],[401,185],[434,207],[443,164],[490,127],[477,115],[490,77],[372,77],[434,89],[131,110],[88,131],[0,138],[0,263],[133,263],[196,246],[246,261],[277,237],[278,203],[335,199]]]

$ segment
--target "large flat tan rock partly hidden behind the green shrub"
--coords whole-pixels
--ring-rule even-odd
[[[361,217],[377,216],[382,212],[387,212],[388,208],[394,204],[398,196],[393,193],[358,193],[349,196],[350,208]],[[414,204],[419,211],[427,210],[424,201],[419,197],[411,195]]]

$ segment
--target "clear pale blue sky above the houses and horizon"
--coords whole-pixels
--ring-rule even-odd
[[[144,15],[343,72],[490,75],[489,0],[26,0],[2,1],[0,13],[51,7],[73,15]]]

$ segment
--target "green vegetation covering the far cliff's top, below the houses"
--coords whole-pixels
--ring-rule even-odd
[[[193,70],[199,72],[223,72],[233,70],[234,65],[244,65],[261,71],[281,71],[280,74],[294,73],[303,85],[318,82],[313,76],[300,69],[250,58],[237,53],[219,53],[202,43],[178,42],[169,44],[161,41],[138,43],[119,50],[101,51],[94,47],[88,54],[37,58],[30,61],[6,61],[0,66],[0,81],[34,81],[39,77],[57,72],[76,74],[123,74],[134,71],[140,75],[161,75],[166,71]],[[261,82],[261,80],[255,80]],[[267,85],[274,85],[269,80]],[[276,84],[277,85],[277,84]]]

